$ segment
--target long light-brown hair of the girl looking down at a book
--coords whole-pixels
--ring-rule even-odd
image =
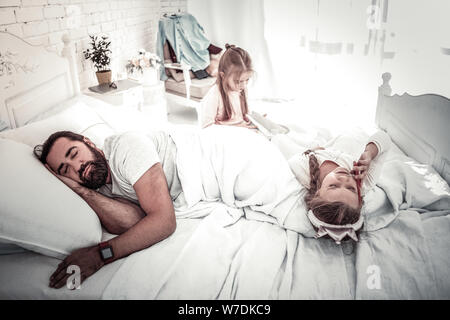
[[[225,45],[225,52],[219,61],[217,87],[222,96],[224,106],[224,118],[223,121],[230,120],[233,108],[230,104],[228,97],[228,91],[230,88],[227,84],[227,79],[233,75],[237,75],[239,78],[244,72],[254,72],[252,66],[252,59],[247,51],[234,45]],[[222,77],[223,75],[223,77]],[[241,110],[244,119],[247,120],[246,114],[248,113],[247,96],[245,90],[240,93]]]

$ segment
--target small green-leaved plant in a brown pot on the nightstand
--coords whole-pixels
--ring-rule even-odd
[[[84,58],[90,59],[94,63],[94,67],[97,70],[95,75],[99,84],[111,83],[111,70],[109,64],[111,59],[109,55],[111,50],[109,46],[111,41],[108,41],[107,36],[89,36],[91,38],[92,48],[83,51]]]

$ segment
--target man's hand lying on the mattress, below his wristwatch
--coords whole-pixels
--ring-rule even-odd
[[[51,288],[59,289],[67,283],[71,274],[67,273],[70,265],[80,268],[80,284],[92,274],[104,266],[98,246],[82,248],[74,251],[70,256],[58,265],[56,271],[50,277]]]

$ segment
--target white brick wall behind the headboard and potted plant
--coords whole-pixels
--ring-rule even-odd
[[[185,12],[187,0],[0,0],[0,30],[60,52],[61,37],[75,43],[82,89],[96,84],[94,68],[83,56],[89,34],[107,34],[113,72],[144,48],[155,51],[159,17]]]

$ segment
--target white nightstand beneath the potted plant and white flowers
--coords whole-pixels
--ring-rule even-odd
[[[108,84],[89,87],[83,93],[100,99],[113,106],[124,106],[140,110],[144,105],[143,87],[132,80],[119,80],[114,82],[117,88]]]

